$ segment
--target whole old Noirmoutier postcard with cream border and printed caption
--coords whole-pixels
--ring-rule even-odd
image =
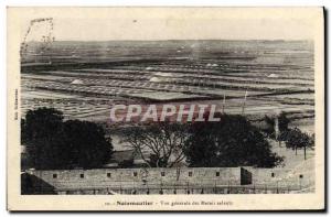
[[[324,209],[323,25],[9,7],[8,209]]]

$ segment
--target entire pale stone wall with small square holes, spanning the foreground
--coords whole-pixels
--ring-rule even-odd
[[[311,174],[249,166],[30,170],[24,174],[35,181],[22,185],[28,194],[285,194],[313,192],[314,186]]]

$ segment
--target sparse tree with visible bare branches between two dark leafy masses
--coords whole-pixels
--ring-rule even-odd
[[[128,142],[149,167],[172,167],[184,159],[186,139],[183,123],[160,121],[143,127],[134,127],[124,132]],[[147,158],[146,153],[149,153]]]

